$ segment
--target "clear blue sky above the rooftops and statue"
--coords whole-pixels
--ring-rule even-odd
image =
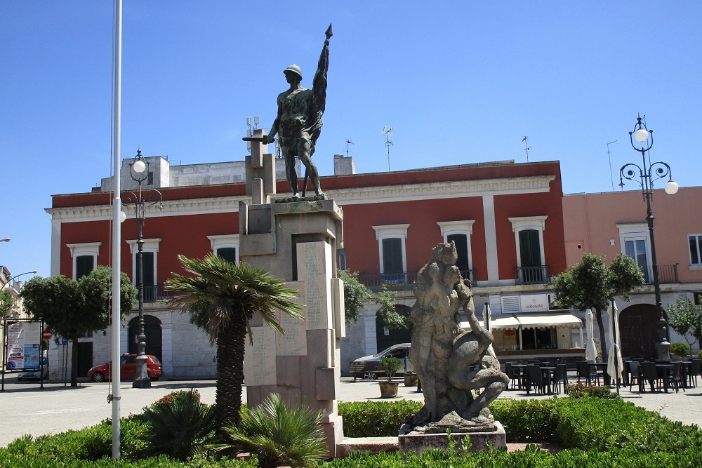
[[[347,140],[359,173],[388,171],[392,126],[392,171],[526,162],[526,135],[529,161],[561,161],[565,193],[607,192],[640,162],[628,141],[640,113],[651,157],[700,185],[702,2],[429,6],[126,0],[121,156],[243,159],[246,117],[270,127],[292,62],[311,86],[331,22],[321,175]],[[13,274],[50,274],[51,195],[112,173],[112,8],[0,1],[0,238],[12,238],[0,265]]]

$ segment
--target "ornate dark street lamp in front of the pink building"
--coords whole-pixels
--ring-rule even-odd
[[[656,351],[658,359],[670,359],[670,342],[668,342],[668,328],[665,320],[665,312],[661,305],[661,283],[658,281],[658,261],[656,260],[656,241],[654,239],[654,215],[651,210],[651,199],[654,196],[653,188],[656,180],[667,177],[668,182],[665,184],[665,193],[675,194],[677,192],[677,183],[673,182],[673,175],[670,173],[670,166],[663,161],[651,163],[651,154],[649,160],[646,160],[646,153],[654,145],[654,131],[646,128],[646,124],[641,121],[641,116],[637,117],[634,130],[629,132],[629,140],[631,147],[641,153],[642,166],[635,163],[628,163],[621,166],[619,169],[619,186],[624,187],[624,179],[637,182],[641,186],[641,192],[646,201],[647,215],[646,220],[649,225],[649,236],[651,237],[651,262],[653,263],[654,276],[654,294],[656,296],[656,312],[658,313],[658,339],[656,343]],[[634,140],[642,144],[642,147],[637,148]],[[635,169],[638,170],[638,178]]]

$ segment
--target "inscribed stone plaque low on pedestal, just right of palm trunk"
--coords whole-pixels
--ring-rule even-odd
[[[244,378],[246,386],[276,385],[275,335],[270,326],[252,327],[253,346],[246,340]]]

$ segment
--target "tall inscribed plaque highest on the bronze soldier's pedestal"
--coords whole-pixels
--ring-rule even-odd
[[[305,282],[307,329],[333,328],[331,246],[328,243],[298,243],[298,278]]]

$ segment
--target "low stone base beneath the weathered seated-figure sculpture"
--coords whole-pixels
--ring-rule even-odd
[[[489,446],[495,450],[507,447],[507,434],[505,428],[499,421],[494,422],[496,430],[490,432],[456,432],[451,433],[451,439],[456,441],[456,449],[463,450],[464,437],[470,439],[470,452],[486,452]],[[399,450],[403,452],[414,452],[417,455],[430,448],[449,448],[449,436],[447,434],[400,434],[397,437]]]

